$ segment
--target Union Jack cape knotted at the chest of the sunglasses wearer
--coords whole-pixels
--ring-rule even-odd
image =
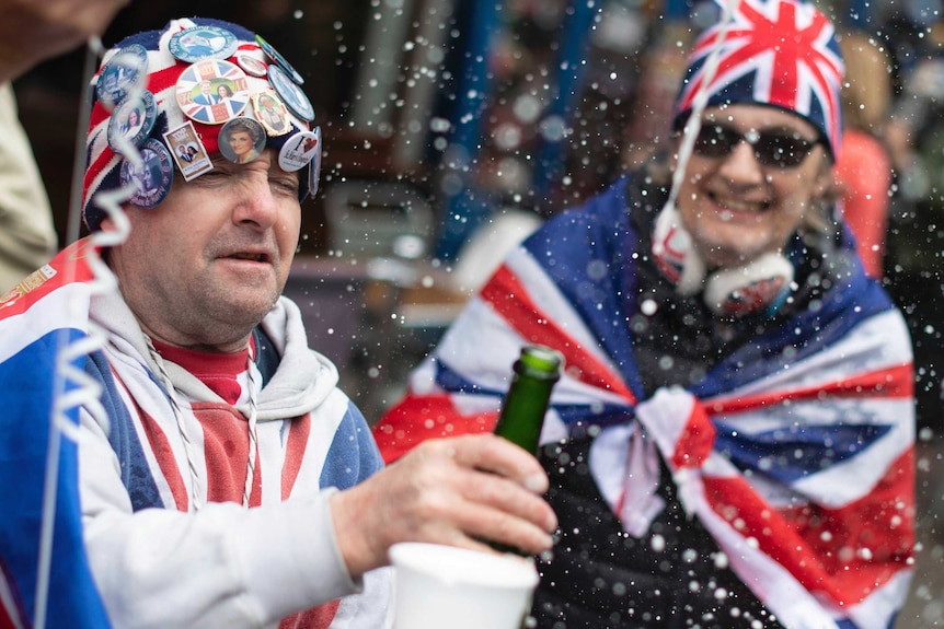
[[[636,248],[626,207],[623,179],[509,255],[375,429],[384,458],[491,430],[520,347],[548,345],[566,369],[542,442],[599,427],[590,470],[628,531],[658,478],[633,455],[644,430],[682,505],[781,624],[891,627],[913,546],[911,346],[900,313],[856,265],[817,307],[688,388],[646,397],[628,322],[641,314],[634,268],[648,252]]]

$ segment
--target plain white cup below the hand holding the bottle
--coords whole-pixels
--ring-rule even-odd
[[[531,609],[531,560],[438,544],[390,548],[394,629],[519,629]]]

